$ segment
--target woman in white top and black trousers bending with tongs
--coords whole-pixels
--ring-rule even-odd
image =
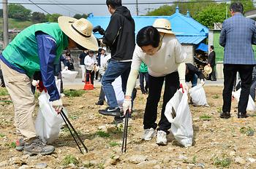
[[[154,27],[153,27],[154,26]],[[165,81],[161,119],[158,123],[157,144],[167,145],[166,135],[170,133],[170,122],[165,117],[165,106],[170,98],[182,84],[183,90],[187,89],[185,82],[186,65],[181,44],[171,31],[170,21],[157,19],[153,26],[146,26],[138,32],[137,45],[133,53],[131,72],[127,82],[127,92],[124,99],[124,113],[132,111],[131,95],[135,87],[140,64],[148,66],[148,98],[143,119],[143,140],[149,141],[156,134],[157,106],[161,97],[162,86]]]

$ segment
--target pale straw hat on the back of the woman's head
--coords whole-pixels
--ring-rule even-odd
[[[165,33],[165,34],[175,34],[172,31],[172,27],[170,25],[170,21],[165,18],[159,18],[154,20],[153,26],[157,28],[157,31]]]

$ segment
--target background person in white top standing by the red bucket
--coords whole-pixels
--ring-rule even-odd
[[[86,66],[86,82],[89,82],[89,79],[91,79],[91,84],[94,84],[94,68],[97,66],[94,51],[90,50],[89,55],[86,55],[84,65]]]

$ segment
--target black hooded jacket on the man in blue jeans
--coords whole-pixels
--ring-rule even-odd
[[[103,36],[112,60],[132,60],[135,49],[135,22],[127,7],[117,7]]]

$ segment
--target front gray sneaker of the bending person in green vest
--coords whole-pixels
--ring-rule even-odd
[[[34,155],[34,154],[42,154],[48,155],[53,153],[55,150],[54,146],[46,145],[42,139],[36,138],[32,141],[31,144],[25,144],[24,146],[24,154]]]

